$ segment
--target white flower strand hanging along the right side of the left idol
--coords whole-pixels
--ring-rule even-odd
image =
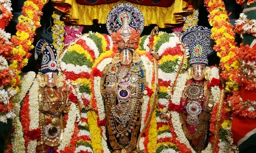
[[[68,112],[66,128],[64,129],[64,132],[63,132],[63,139],[61,141],[61,144],[58,147],[57,152],[64,150],[64,148],[68,144],[70,144],[70,140],[72,138],[72,135],[75,129],[75,122],[76,122],[76,105],[71,102],[70,110]]]

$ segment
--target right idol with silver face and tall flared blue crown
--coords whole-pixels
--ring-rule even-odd
[[[186,138],[196,152],[201,152],[207,146],[213,108],[213,97],[207,88],[210,78],[207,56],[213,53],[210,35],[209,28],[195,26],[187,29],[181,38],[189,48],[191,67],[181,97],[180,121]]]

